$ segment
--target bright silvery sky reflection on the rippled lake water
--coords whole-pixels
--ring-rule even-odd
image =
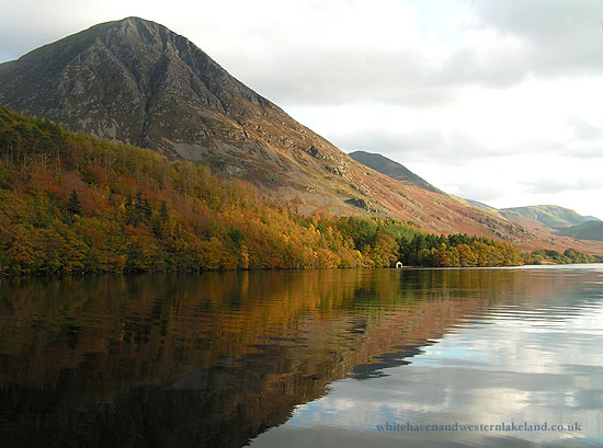
[[[487,312],[458,319],[406,358],[409,366],[386,366],[367,382],[334,382],[328,395],[298,406],[286,425],[251,446],[288,440],[310,447],[320,439],[346,448],[602,446],[603,291],[593,278],[603,278],[603,272],[573,269],[561,278],[544,273],[526,274],[522,282],[528,287],[513,288],[516,302],[497,301]],[[504,422],[572,430],[417,430]],[[414,429],[379,432],[386,423]]]

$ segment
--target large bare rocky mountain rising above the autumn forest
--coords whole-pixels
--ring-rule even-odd
[[[359,163],[185,37],[138,18],[0,64],[0,105],[170,160],[198,161],[300,212],[391,217],[526,250],[565,244],[467,207],[420,177],[400,182]]]

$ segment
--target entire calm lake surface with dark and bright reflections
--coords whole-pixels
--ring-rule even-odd
[[[603,446],[603,265],[0,280],[0,440]]]

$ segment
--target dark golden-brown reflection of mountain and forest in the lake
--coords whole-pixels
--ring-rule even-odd
[[[14,280],[0,289],[8,446],[240,447],[467,315],[564,287],[524,271]],[[50,446],[53,446],[50,444]]]

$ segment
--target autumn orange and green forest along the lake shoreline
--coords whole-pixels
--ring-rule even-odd
[[[602,262],[574,249],[304,216],[198,163],[64,131],[0,106],[0,275]]]

